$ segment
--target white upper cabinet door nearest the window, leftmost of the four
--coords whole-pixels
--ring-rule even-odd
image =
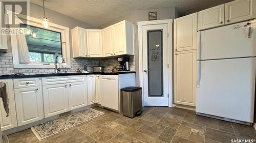
[[[75,27],[71,30],[73,58],[87,57],[86,29]]]

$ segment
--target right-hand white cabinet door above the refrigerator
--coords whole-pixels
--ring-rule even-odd
[[[237,0],[225,4],[225,24],[256,17],[255,0]]]

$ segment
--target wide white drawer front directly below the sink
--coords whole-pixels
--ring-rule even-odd
[[[86,81],[86,75],[43,77],[42,85]]]

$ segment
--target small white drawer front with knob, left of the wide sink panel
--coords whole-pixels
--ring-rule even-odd
[[[14,89],[29,88],[39,86],[39,78],[19,78],[13,79]]]

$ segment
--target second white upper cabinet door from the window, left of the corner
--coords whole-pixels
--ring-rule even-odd
[[[102,57],[101,30],[86,30],[89,57]]]

